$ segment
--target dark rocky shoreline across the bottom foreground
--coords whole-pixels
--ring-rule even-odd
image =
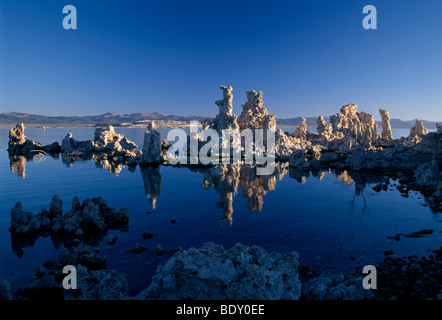
[[[65,265],[76,266],[77,289],[65,290]],[[66,249],[34,269],[14,293],[0,281],[0,300],[441,300],[442,247],[428,256],[385,252],[376,265],[377,289],[364,289],[361,270],[317,273],[299,264],[297,252],[268,253],[237,243],[225,250],[214,243],[179,249],[146,289],[130,291],[125,277],[106,268],[98,248]]]

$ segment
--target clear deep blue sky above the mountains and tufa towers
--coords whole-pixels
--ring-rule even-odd
[[[440,0],[1,1],[0,112],[213,116],[222,84],[237,115],[261,90],[278,118],[355,103],[442,120]]]

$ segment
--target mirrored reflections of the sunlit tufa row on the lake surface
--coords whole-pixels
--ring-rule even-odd
[[[44,161],[48,156],[44,154],[36,154],[31,158],[25,156],[9,156],[10,168],[12,173],[17,173],[19,177],[26,177],[27,161]],[[65,155],[62,154],[63,164],[72,167],[76,161],[94,160],[97,168],[103,168],[109,172],[118,175],[127,166],[124,161],[115,161],[114,158],[108,159],[102,155]],[[246,199],[247,210],[262,210],[264,206],[264,197],[270,191],[276,190],[277,181],[289,173],[291,179],[298,183],[304,184],[310,176],[321,181],[326,174],[332,174],[340,181],[354,188],[353,199],[349,203],[349,212],[355,211],[356,203],[362,202],[363,215],[369,212],[369,207],[365,198],[364,190],[369,184],[385,181],[382,173],[362,173],[348,170],[317,170],[302,171],[289,167],[288,163],[276,163],[275,170],[271,175],[259,176],[256,172],[255,165],[232,164],[232,165],[215,165],[208,167],[183,166],[177,170],[190,170],[201,174],[203,182],[201,187],[204,189],[214,189],[218,194],[219,200],[215,206],[222,209],[222,221],[233,222],[233,199],[241,191],[241,195]],[[135,167],[128,166],[129,171],[135,172]],[[162,193],[162,180],[160,167],[142,167],[140,172],[143,179],[144,191],[146,198],[151,203],[152,209],[156,208],[159,196]],[[388,180],[388,179],[387,179]]]

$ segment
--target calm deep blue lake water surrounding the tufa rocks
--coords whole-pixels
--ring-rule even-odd
[[[74,196],[80,201],[102,196],[111,207],[129,208],[129,230],[109,230],[108,235],[118,236],[115,245],[103,239],[97,247],[107,256],[107,267],[126,277],[132,294],[150,284],[157,265],[165,263],[175,248],[199,247],[208,241],[226,249],[241,242],[268,251],[295,250],[301,264],[318,271],[377,264],[387,249],[424,255],[442,243],[440,213],[432,213],[414,191],[408,198],[394,187],[374,192],[373,177],[347,171],[302,176],[288,167],[279,167],[268,177],[257,177],[245,167],[221,171],[137,166],[131,171],[127,166],[66,162],[61,156],[44,155],[11,162],[8,131],[0,129],[0,279],[6,279],[12,291],[29,281],[35,266],[54,259],[65,247],[40,237],[17,254],[8,231],[11,208],[21,201],[23,210],[37,213],[49,208],[55,194],[62,198],[64,212],[70,210]],[[142,147],[144,129],[116,131]],[[42,144],[61,143],[68,132],[77,140],[89,140],[94,129],[25,130],[29,139]],[[387,238],[422,229],[435,231],[422,238]],[[143,239],[144,231],[157,236]],[[130,252],[137,242],[148,250]],[[150,251],[157,243],[165,249],[163,256]]]

